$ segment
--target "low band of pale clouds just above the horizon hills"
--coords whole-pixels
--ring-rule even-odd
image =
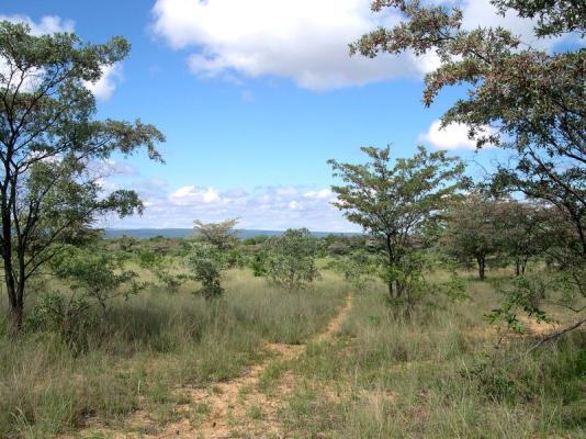
[[[109,226],[191,227],[193,219],[217,222],[239,217],[240,227],[285,229],[308,227],[326,232],[358,232],[331,205],[336,195],[328,189],[297,185],[260,187],[251,191],[221,191],[211,187],[185,185],[169,190],[160,180],[134,182],[145,203],[143,216],[122,221],[112,218]]]

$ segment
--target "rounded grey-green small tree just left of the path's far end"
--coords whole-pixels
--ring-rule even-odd
[[[298,291],[319,275],[317,243],[306,228],[290,228],[268,241],[266,275],[286,291]]]

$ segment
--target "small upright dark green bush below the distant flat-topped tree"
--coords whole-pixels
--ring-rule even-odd
[[[221,250],[210,243],[194,241],[188,256],[188,266],[193,271],[193,278],[202,283],[199,294],[205,299],[222,295],[222,271],[227,263]]]

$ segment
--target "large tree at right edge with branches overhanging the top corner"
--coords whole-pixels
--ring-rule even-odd
[[[493,0],[493,4],[502,14],[537,18],[537,38],[586,34],[584,2]],[[573,270],[572,278],[583,279],[586,272],[586,50],[578,46],[546,53],[522,44],[503,27],[465,31],[462,11],[453,4],[435,5],[418,0],[372,2],[374,12],[385,8],[398,10],[405,20],[392,29],[379,27],[362,36],[350,45],[351,54],[437,55],[440,66],[425,78],[425,104],[431,105],[447,87],[467,88],[466,98],[458,100],[443,114],[442,125],[465,124],[477,147],[489,143],[515,153],[514,164],[502,166],[497,180],[531,199],[544,200],[572,224],[573,252],[564,252],[559,264]],[[576,282],[574,289],[586,297],[583,281]],[[582,314],[572,328],[585,323],[586,316]]]

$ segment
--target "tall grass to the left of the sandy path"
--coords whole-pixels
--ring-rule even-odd
[[[55,437],[92,419],[116,424],[142,405],[159,423],[172,420],[182,403],[173,389],[236,376],[268,354],[267,341],[303,342],[346,293],[327,275],[300,293],[239,270],[225,285],[219,301],[190,294],[196,285],[188,284],[116,302],[106,322],[83,328],[78,354],[54,334],[0,335],[0,437]]]

